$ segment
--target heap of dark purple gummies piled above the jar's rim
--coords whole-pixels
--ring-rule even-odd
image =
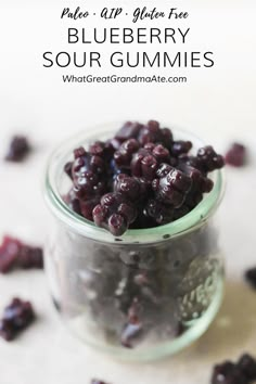
[[[189,152],[158,121],[127,121],[114,138],[74,151],[64,170],[73,185],[65,202],[115,236],[128,228],[162,226],[181,218],[209,193],[207,174],[223,166],[213,146]]]

